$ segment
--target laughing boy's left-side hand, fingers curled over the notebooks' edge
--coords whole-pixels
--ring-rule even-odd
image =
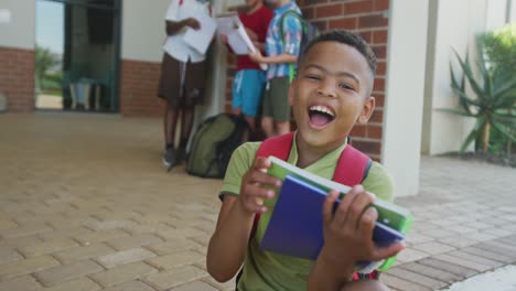
[[[243,208],[248,213],[267,212],[267,207],[262,205],[265,198],[272,198],[275,191],[265,186],[281,187],[281,181],[269,174],[267,169],[271,165],[270,161],[265,158],[256,158],[251,168],[241,179],[240,196],[238,201]]]

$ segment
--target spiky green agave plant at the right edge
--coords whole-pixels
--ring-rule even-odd
[[[459,97],[460,107],[443,110],[476,119],[473,129],[461,146],[461,153],[473,141],[481,142],[482,151],[486,152],[492,128],[516,141],[513,131],[516,128],[516,79],[512,78],[506,71],[488,67],[481,43],[479,43],[477,52],[479,77],[473,74],[467,54],[463,61],[455,52],[463,73],[461,77],[455,76],[450,64],[451,87]],[[466,83],[473,94],[466,89]],[[477,149],[479,144],[475,146]]]

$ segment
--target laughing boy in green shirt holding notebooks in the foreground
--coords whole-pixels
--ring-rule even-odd
[[[353,126],[373,114],[370,96],[376,56],[368,44],[347,31],[314,39],[298,61],[289,100],[298,125],[288,162],[331,179]],[[207,270],[217,281],[232,279],[244,266],[238,290],[387,290],[377,280],[352,281],[357,261],[378,261],[399,252],[402,244],[379,248],[373,242],[375,196],[393,200],[393,182],[374,162],[362,185],[355,185],[332,213],[337,198],[330,192],[323,206],[324,246],[310,261],[264,251],[258,228],[249,240],[260,200],[271,198],[281,181],[268,175],[270,162],[256,158],[259,143],[246,143],[232,157],[221,196],[223,206],[207,252]]]

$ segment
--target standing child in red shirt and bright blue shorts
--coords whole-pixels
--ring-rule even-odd
[[[258,50],[264,47],[272,12],[264,6],[262,0],[246,0],[248,10],[238,15],[247,34]],[[227,44],[227,36],[222,35]],[[233,80],[233,114],[244,114],[251,131],[255,131],[255,117],[261,103],[261,95],[266,82],[265,72],[259,64],[247,55],[237,56],[237,73]]]

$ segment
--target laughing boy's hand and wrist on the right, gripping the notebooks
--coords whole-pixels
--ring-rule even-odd
[[[362,185],[354,186],[333,213],[338,197],[331,191],[324,202],[324,246],[320,259],[341,270],[350,270],[357,261],[378,261],[404,249],[401,242],[377,247],[373,241],[373,229],[378,213],[369,205],[375,196],[365,193]]]

